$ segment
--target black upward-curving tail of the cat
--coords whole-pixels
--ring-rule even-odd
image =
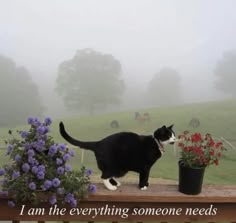
[[[59,130],[61,133],[61,136],[70,144],[74,145],[74,146],[78,146],[82,149],[88,149],[91,151],[95,151],[96,149],[96,145],[97,142],[83,142],[83,141],[79,141],[77,139],[74,139],[73,137],[71,137],[65,130],[64,124],[63,122],[59,123]]]

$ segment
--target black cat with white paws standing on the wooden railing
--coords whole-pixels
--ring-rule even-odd
[[[72,138],[60,122],[60,133],[69,143],[94,152],[101,178],[109,190],[116,190],[120,182],[116,178],[128,171],[139,173],[139,188],[148,187],[149,172],[152,165],[162,156],[164,145],[176,140],[173,125],[162,126],[153,136],[143,136],[132,132],[120,132],[100,141],[84,142]]]

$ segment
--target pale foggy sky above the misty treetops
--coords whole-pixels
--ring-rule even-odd
[[[0,54],[42,83],[77,49],[93,48],[121,62],[131,88],[143,91],[170,66],[193,98],[214,98],[214,67],[236,49],[235,8],[234,0],[0,0]]]

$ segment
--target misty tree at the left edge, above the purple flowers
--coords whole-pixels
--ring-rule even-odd
[[[38,88],[29,72],[0,56],[0,127],[25,123],[28,116],[42,112]]]

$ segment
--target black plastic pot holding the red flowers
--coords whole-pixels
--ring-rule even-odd
[[[188,195],[197,195],[202,191],[205,167],[191,168],[179,161],[179,191]]]

